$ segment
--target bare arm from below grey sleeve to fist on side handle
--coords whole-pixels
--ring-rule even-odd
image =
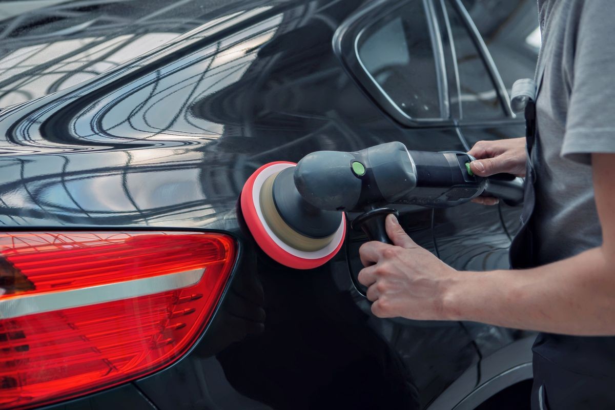
[[[534,269],[458,272],[387,218],[394,245],[360,248],[372,312],[379,317],[470,320],[586,336],[615,334],[615,154],[592,154],[603,244]]]

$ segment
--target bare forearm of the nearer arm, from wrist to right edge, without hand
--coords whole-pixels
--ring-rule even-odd
[[[510,328],[615,334],[615,269],[602,248],[534,269],[458,272],[443,288],[445,315]]]

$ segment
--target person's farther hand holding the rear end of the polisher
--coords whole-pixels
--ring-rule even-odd
[[[470,162],[472,172],[480,176],[490,176],[502,172],[515,176],[525,176],[525,137],[508,140],[478,141],[468,152],[477,160]],[[472,202],[495,205],[498,199],[477,197]]]

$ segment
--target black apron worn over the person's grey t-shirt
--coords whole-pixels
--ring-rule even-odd
[[[542,57],[542,56],[541,56]],[[546,58],[536,71],[534,98],[525,107],[525,200],[522,227],[510,245],[513,269],[536,267],[532,213],[536,205],[536,169],[542,161],[536,127],[536,98],[544,76]],[[515,96],[513,95],[513,98]],[[533,345],[533,410],[615,409],[615,337],[579,337],[540,333]]]

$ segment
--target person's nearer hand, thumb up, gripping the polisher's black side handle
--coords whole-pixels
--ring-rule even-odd
[[[378,317],[448,319],[443,300],[456,270],[416,245],[394,215],[387,216],[386,232],[394,245],[368,242],[359,249],[365,266],[359,282],[368,287],[371,311]]]

